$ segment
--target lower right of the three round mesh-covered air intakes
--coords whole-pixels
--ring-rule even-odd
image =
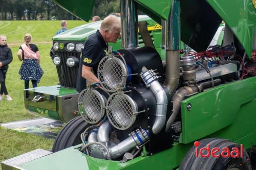
[[[106,113],[115,128],[125,130],[134,124],[138,106],[129,95],[114,93],[107,102]]]

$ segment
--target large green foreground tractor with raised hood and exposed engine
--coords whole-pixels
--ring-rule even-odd
[[[55,2],[84,20],[94,4]],[[148,32],[140,31],[138,47],[137,10],[161,23],[165,63]],[[223,20],[222,44],[209,47]],[[123,48],[109,48],[100,85],[77,95],[79,116],[58,134],[53,153],[35,150],[2,168],[252,169],[255,1],[121,0],[121,25]],[[195,51],[180,57],[181,41]]]

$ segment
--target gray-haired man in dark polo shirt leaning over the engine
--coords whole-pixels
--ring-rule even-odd
[[[78,92],[86,89],[86,80],[90,81],[90,83],[99,83],[97,78],[99,62],[106,55],[105,50],[108,48],[108,42],[116,43],[120,38],[120,31],[120,19],[109,15],[101,22],[100,30],[90,35],[83,43],[84,47],[82,48],[76,81],[76,90]]]

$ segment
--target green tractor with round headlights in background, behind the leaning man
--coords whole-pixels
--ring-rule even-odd
[[[146,15],[139,15],[139,21],[147,22],[147,29],[158,53],[165,58],[161,46],[161,25]],[[69,122],[79,115],[75,90],[81,47],[89,35],[100,28],[101,21],[87,23],[53,37],[53,64],[56,65],[59,85],[26,89],[24,91],[25,107],[28,112],[62,122]],[[114,49],[121,48],[121,40],[110,43]],[[138,45],[144,46],[141,35]]]

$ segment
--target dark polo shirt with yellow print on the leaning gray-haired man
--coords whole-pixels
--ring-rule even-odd
[[[82,57],[79,62],[76,90],[81,92],[86,89],[86,79],[82,77],[82,65],[92,67],[94,74],[97,76],[97,69],[100,60],[105,57],[105,51],[108,48],[108,44],[104,41],[99,30],[96,33],[90,35],[88,39],[83,43]]]

